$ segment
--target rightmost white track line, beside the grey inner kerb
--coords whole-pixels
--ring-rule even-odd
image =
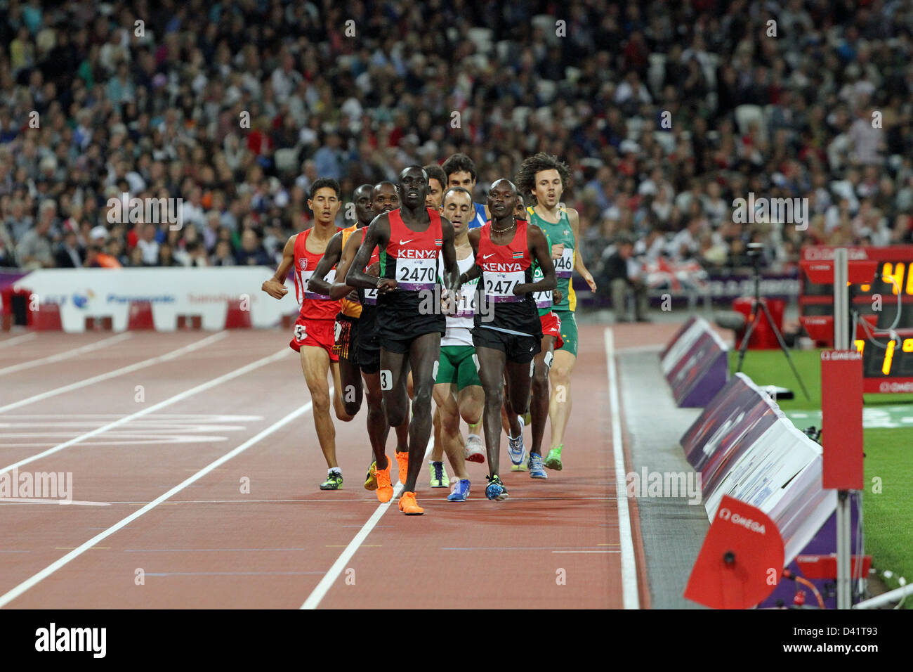
[[[631,536],[631,515],[627,507],[626,476],[624,471],[624,444],[622,419],[618,403],[618,374],[615,371],[615,339],[611,328],[605,329],[605,361],[608,364],[609,407],[612,411],[612,452],[615,459],[615,488],[618,502],[618,538],[622,553],[622,596],[625,609],[640,609],[637,593],[637,561],[634,538]]]

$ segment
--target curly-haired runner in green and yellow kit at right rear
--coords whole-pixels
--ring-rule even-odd
[[[551,362],[551,450],[545,458],[545,466],[561,471],[561,450],[564,430],[571,415],[571,373],[577,361],[577,321],[573,312],[577,308],[577,296],[573,291],[571,276],[579,272],[590,290],[596,291],[593,275],[586,270],[577,250],[579,216],[573,208],[561,206],[561,194],[571,178],[571,169],[556,156],[539,153],[530,156],[517,171],[517,185],[526,195],[536,197],[536,205],[527,208],[530,223],[546,232],[551,245],[551,256],[555,258],[555,274],[561,302],[556,302],[552,313],[561,320],[562,345],[555,350]]]

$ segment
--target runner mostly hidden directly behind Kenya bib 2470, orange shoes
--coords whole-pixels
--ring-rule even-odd
[[[361,187],[360,187],[361,188]],[[371,213],[381,214],[389,212],[398,205],[399,200],[396,196],[396,187],[392,182],[381,182],[371,190],[371,200],[368,209]],[[356,211],[358,205],[356,204]],[[359,217],[361,220],[361,216]],[[362,245],[367,227],[358,229],[354,235],[347,238],[342,249],[341,259],[337,265],[336,282],[330,288],[331,297],[341,297],[351,293],[352,287],[340,279],[344,279],[355,253]],[[379,252],[374,248],[369,260],[366,272],[377,277],[380,272]],[[376,313],[377,313],[377,290],[357,290],[358,298],[361,303],[362,313],[358,320],[358,328],[355,337],[350,341],[350,350],[354,353],[354,359],[358,362],[359,368],[362,369],[362,377],[365,384],[365,396],[368,402],[368,438],[371,441],[371,447],[374,454],[374,461],[368,470],[368,478],[365,481],[365,488],[377,490],[377,499],[382,502],[389,502],[394,496],[394,488],[391,479],[391,464],[384,452],[387,442],[387,436],[390,433],[390,425],[387,424],[386,416],[383,414],[383,396],[381,394],[381,376],[380,376],[380,345],[377,342],[375,334]],[[404,455],[408,450],[408,423],[403,422],[396,428],[397,448]],[[405,475],[401,470],[401,481],[405,481]],[[372,483],[373,481],[373,483]],[[373,487],[372,487],[373,485]]]

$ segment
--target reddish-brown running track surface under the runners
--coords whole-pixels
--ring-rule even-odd
[[[665,343],[676,327],[614,327],[615,347]],[[502,473],[510,499],[498,504],[484,496],[487,466],[470,464],[472,494],[466,503],[455,504],[446,501],[446,489],[428,487],[425,467],[418,487],[425,516],[404,517],[394,499],[341,568],[320,607],[622,605],[603,327],[580,331],[564,470],[550,471],[544,482],[531,481],[526,473]],[[8,596],[70,550],[309,402],[285,331],[233,331],[179,357],[5,410],[212,335],[137,332],[76,357],[2,371],[110,336],[42,333],[9,347],[4,341],[16,336],[0,337],[0,469],[285,352],[20,466],[20,472],[71,472],[74,500],[108,506],[0,504],[0,595]],[[137,400],[137,386],[144,399]],[[173,429],[175,422],[184,428]],[[0,597],[0,603],[14,608],[299,607],[378,510],[374,494],[362,488],[370,453],[364,411],[352,422],[336,421],[336,432],[342,491],[317,487],[326,466],[309,409],[56,571],[29,582],[14,599]],[[184,438],[175,441],[175,433]],[[202,440],[190,441],[194,435]],[[546,441],[548,436],[547,431]],[[391,435],[388,454],[392,450]],[[509,465],[504,454],[501,464]],[[249,494],[241,492],[245,478]],[[632,507],[645,606],[635,513]],[[139,570],[142,585],[137,585]],[[564,584],[557,581],[561,576]]]

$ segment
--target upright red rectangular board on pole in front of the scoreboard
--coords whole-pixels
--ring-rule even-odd
[[[825,488],[863,488],[862,393],[862,354],[855,350],[822,350],[821,439]]]

